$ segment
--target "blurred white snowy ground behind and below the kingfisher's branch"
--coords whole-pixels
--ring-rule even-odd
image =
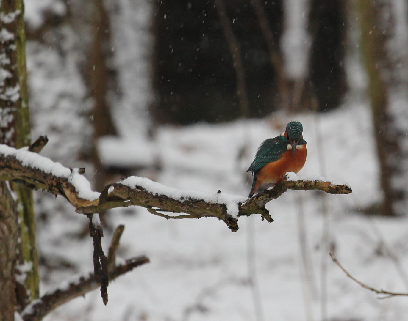
[[[113,281],[107,306],[95,290],[45,320],[320,320],[322,257],[328,271],[329,320],[408,320],[406,297],[377,299],[321,250],[327,201],[329,243],[341,264],[370,286],[408,291],[408,218],[358,213],[379,197],[366,106],[348,104],[318,118],[277,114],[265,120],[160,128],[155,148],[162,170],[150,178],[171,187],[246,196],[250,184],[245,171],[257,146],[294,119],[303,123],[308,143],[306,165],[298,175],[347,182],[352,194],[288,191],[267,205],[275,222],[262,222],[259,215],[240,218],[236,233],[212,218],[165,220],[137,207],[112,210],[112,224],[125,224],[120,257],[145,254],[151,263]],[[72,273],[92,270],[92,241],[70,237],[81,231],[86,218],[62,198],[42,198],[39,208],[55,213],[48,218],[38,213],[40,254],[75,262],[65,272],[43,268],[43,293]],[[105,250],[110,237],[106,232]],[[254,262],[255,273],[248,273]],[[255,304],[254,296],[259,297]]]

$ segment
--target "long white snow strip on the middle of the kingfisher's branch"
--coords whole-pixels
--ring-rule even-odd
[[[163,184],[153,182],[149,178],[130,176],[120,182],[123,185],[129,186],[133,189],[142,187],[144,190],[154,195],[165,195],[183,202],[187,199],[199,199],[207,203],[222,203],[227,207],[227,213],[234,218],[238,218],[238,203],[244,203],[248,198],[239,195],[231,195],[227,193],[207,193],[197,190],[177,189],[167,187]]]

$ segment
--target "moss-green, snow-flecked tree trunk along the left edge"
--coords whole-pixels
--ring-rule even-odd
[[[22,0],[2,1],[0,13],[0,143],[20,148],[30,144],[24,4]],[[38,257],[31,190],[16,183],[10,186],[8,182],[2,182],[0,203],[0,316],[2,320],[13,320],[14,310],[21,310],[38,298]]]

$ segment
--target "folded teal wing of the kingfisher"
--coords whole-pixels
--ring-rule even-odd
[[[264,141],[258,148],[255,159],[247,171],[257,171],[266,164],[277,161],[287,151],[287,138],[277,136]]]

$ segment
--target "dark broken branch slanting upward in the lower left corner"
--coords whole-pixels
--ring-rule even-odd
[[[112,271],[109,271],[109,280],[112,281],[118,276],[133,270],[133,268],[148,262],[149,259],[145,256],[128,259],[125,264],[118,265]],[[57,289],[33,301],[24,309],[21,317],[24,321],[40,321],[49,312],[58,308],[58,306],[91,290],[95,290],[99,285],[99,276],[95,275],[95,273],[80,277],[78,281],[70,283],[64,289]]]

